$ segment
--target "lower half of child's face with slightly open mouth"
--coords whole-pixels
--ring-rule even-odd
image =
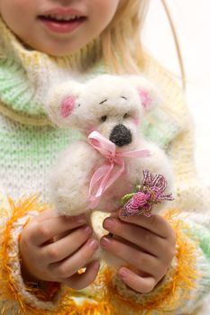
[[[95,39],[121,0],[0,0],[0,14],[32,49],[65,56]]]

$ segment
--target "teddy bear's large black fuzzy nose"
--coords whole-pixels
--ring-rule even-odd
[[[122,123],[119,123],[112,130],[109,139],[116,146],[123,147],[124,145],[132,142],[132,132],[128,130]]]

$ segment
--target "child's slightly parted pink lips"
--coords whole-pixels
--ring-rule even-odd
[[[56,19],[50,15],[39,15],[38,20],[50,31],[56,33],[69,33],[78,29],[82,23],[87,20],[86,16],[78,16],[77,18],[66,21],[65,19]]]

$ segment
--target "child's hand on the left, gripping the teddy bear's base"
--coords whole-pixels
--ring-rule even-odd
[[[80,290],[91,284],[99,263],[88,263],[98,246],[85,216],[57,217],[44,211],[23,228],[20,239],[23,277],[52,281]],[[78,269],[86,266],[86,273]]]

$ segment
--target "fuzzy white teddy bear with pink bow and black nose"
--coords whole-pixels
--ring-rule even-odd
[[[53,87],[47,105],[51,121],[83,135],[59,155],[51,171],[51,198],[59,215],[86,212],[90,218],[93,211],[118,211],[122,198],[124,215],[133,209],[140,214],[141,204],[150,215],[151,208],[158,212],[171,200],[169,157],[141,131],[144,114],[159,103],[156,87],[142,76],[100,75]],[[155,201],[149,202],[151,196]],[[111,266],[123,263],[101,248],[96,257]]]

